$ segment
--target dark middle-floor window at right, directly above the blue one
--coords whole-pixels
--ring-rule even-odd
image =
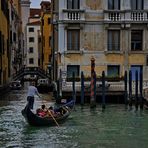
[[[131,50],[141,51],[142,50],[142,30],[131,31]]]

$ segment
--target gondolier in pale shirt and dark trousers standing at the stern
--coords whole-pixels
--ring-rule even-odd
[[[33,109],[35,95],[40,97],[38,89],[35,87],[35,82],[32,82],[31,85],[28,87],[28,93],[27,93],[27,101],[30,109]]]

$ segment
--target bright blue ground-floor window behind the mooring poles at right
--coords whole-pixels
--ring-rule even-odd
[[[138,80],[140,79],[140,72],[143,73],[142,65],[131,65],[132,80],[136,80],[136,71],[138,71]]]

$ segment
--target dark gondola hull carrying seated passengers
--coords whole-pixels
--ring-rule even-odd
[[[56,117],[40,117],[37,114],[33,113],[29,105],[27,104],[25,108],[22,110],[22,115],[25,117],[26,121],[32,125],[32,126],[54,126],[56,125],[55,120],[57,121],[58,124],[63,123],[66,121],[68,116],[71,113],[72,110],[72,104],[74,104],[72,101],[68,105],[62,105],[56,110],[61,109],[63,112],[62,114],[56,116]]]

